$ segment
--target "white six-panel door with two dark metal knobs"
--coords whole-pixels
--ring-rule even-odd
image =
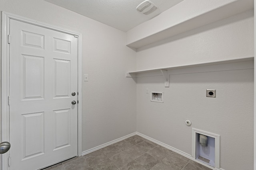
[[[12,19],[10,35],[10,170],[76,156],[77,38]]]

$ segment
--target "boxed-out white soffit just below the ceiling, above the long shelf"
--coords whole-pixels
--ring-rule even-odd
[[[130,29],[126,32],[126,45],[138,49],[209,23],[234,16],[241,12],[253,9],[254,7],[253,0],[225,1],[226,4],[221,4],[220,6],[215,5],[211,9],[206,9],[208,6],[204,7],[203,5],[205,3],[199,1],[193,2],[194,6],[192,6],[193,4],[190,4],[190,1],[180,2],[172,7],[173,9],[170,8],[159,16]],[[219,1],[218,3],[222,3],[222,1]],[[202,9],[200,10],[198,10],[199,5],[202,6]],[[194,11],[191,12],[193,9]],[[179,18],[178,20],[172,18],[174,13],[175,16],[177,16],[176,18]]]

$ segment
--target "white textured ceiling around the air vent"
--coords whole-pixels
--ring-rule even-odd
[[[183,0],[150,0],[158,10],[141,14],[136,7],[144,0],[45,0],[106,25],[128,31]]]

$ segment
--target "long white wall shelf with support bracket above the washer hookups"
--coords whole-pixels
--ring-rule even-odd
[[[225,59],[225,60],[219,60],[219,61],[209,61],[209,62],[203,62],[203,63],[184,64],[184,65],[169,66],[169,67],[162,67],[162,68],[152,68],[152,69],[146,69],[146,70],[130,71],[130,72],[126,72],[126,77],[137,77],[137,74],[139,74],[139,73],[160,71],[162,73],[162,75],[164,76],[165,86],[168,87],[169,86],[168,70],[201,67],[201,66],[211,66],[211,65],[218,65],[218,64],[241,63],[241,62],[248,62],[248,61],[254,61],[254,57],[248,56],[248,57],[240,57],[240,58],[235,58],[235,59]],[[168,81],[168,83],[167,83],[167,81]]]

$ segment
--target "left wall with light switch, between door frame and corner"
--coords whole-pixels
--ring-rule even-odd
[[[124,32],[43,0],[0,0],[0,11],[82,33],[82,151],[136,131],[136,82],[125,77],[136,52]]]

